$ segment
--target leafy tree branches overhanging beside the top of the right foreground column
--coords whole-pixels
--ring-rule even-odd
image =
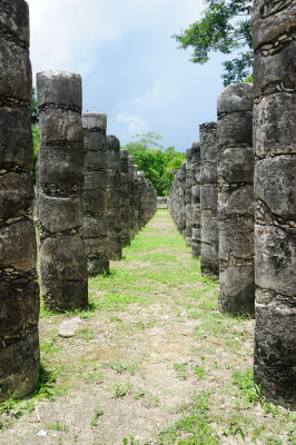
[[[200,20],[174,34],[179,48],[194,50],[190,61],[206,63],[211,51],[237,56],[223,63],[224,85],[239,82],[250,75],[253,67],[250,12],[251,0],[205,0]],[[240,52],[238,52],[240,51]]]

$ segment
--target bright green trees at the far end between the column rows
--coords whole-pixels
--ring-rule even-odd
[[[178,152],[174,147],[164,148],[159,141],[160,135],[147,132],[136,135],[136,141],[125,147],[134,156],[135,164],[145,177],[150,180],[158,196],[167,196],[174,174],[185,160],[185,154]]]

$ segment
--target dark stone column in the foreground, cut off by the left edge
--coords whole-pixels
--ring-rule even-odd
[[[0,400],[30,393],[39,372],[32,221],[29,8],[0,2]]]

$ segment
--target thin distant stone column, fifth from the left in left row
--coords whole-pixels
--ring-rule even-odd
[[[128,150],[120,149],[120,190],[121,190],[121,245],[130,244],[129,231],[129,182],[128,182]]]

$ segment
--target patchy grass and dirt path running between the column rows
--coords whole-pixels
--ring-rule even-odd
[[[167,210],[89,290],[83,313],[41,310],[42,363],[58,374],[0,405],[1,444],[294,443],[292,414],[253,387],[254,322],[219,314]],[[79,326],[61,338],[67,317]]]

